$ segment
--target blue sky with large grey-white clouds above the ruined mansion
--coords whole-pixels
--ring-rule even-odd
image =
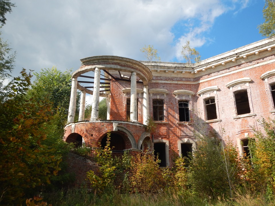
[[[162,61],[184,62],[186,40],[202,59],[264,39],[264,0],[11,0],[2,37],[17,52],[21,68],[40,72],[80,67],[80,59],[115,55],[146,60],[154,45]]]

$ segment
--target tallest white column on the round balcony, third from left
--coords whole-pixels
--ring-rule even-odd
[[[98,119],[99,87],[100,87],[100,69],[95,68],[91,121]]]

